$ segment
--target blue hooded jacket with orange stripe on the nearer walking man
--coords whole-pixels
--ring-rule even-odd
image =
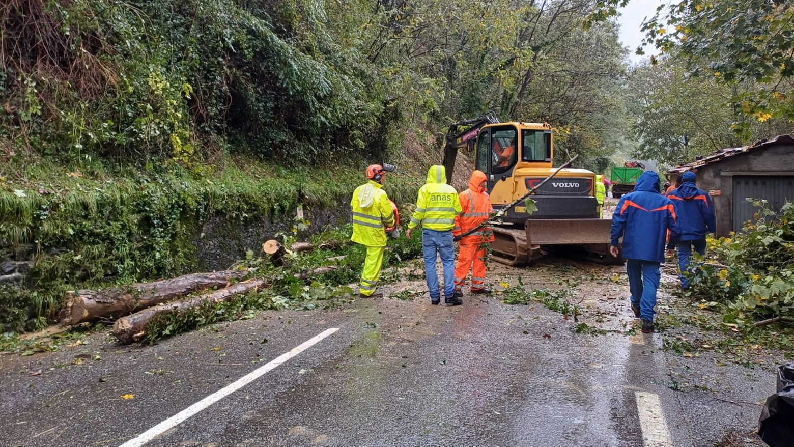
[[[665,239],[670,230],[670,243],[680,238],[680,226],[673,202],[659,193],[659,175],[645,171],[634,191],[624,195],[612,215],[611,245],[617,247],[623,237],[626,259],[665,262]]]

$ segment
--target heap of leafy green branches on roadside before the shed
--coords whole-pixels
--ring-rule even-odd
[[[692,276],[689,295],[702,306],[727,304],[726,320],[746,325],[757,318],[794,318],[794,203],[780,211],[759,207],[742,232],[710,241],[711,261]]]

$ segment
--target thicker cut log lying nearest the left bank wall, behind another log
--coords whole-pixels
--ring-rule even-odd
[[[98,322],[133,313],[135,310],[168,302],[210,287],[225,287],[229,279],[241,279],[244,270],[193,273],[153,283],[136,283],[127,287],[111,287],[101,291],[68,291],[60,323],[74,326],[82,322]]]

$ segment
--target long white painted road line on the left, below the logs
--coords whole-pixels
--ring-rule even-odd
[[[146,430],[143,434],[139,435],[138,437],[126,441],[124,444],[120,445],[119,447],[140,447],[141,445],[146,444],[148,441],[152,441],[155,437],[163,434],[166,430],[171,430],[173,427],[178,426],[182,422],[185,422],[187,418],[195,415],[201,410],[204,410],[206,407],[210,407],[213,403],[218,402],[219,400],[225,398],[227,395],[232,394],[234,391],[239,390],[241,387],[245,387],[245,385],[253,382],[256,379],[259,379],[260,376],[263,376],[266,372],[271,371],[273,368],[279,366],[279,364],[283,364],[285,361],[290,360],[292,357],[297,356],[299,353],[303,353],[306,349],[309,349],[311,346],[321,341],[323,338],[328,337],[330,334],[336,332],[339,328],[330,328],[324,330],[322,333],[318,333],[318,335],[314,336],[310,340],[304,341],[301,345],[295,346],[291,351],[287,353],[283,353],[280,356],[276,357],[275,359],[269,361],[267,364],[260,368],[256,368],[252,372],[249,372],[245,376],[242,376],[236,382],[229,383],[225,387],[221,388],[218,391],[215,391],[211,395],[206,396],[206,398],[199,400],[197,403],[194,403],[190,407],[185,408],[179,413],[174,414],[172,417],[160,422],[156,426],[153,426],[149,430]]]

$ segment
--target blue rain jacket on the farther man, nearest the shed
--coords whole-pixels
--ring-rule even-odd
[[[681,241],[703,241],[707,233],[714,233],[716,219],[714,204],[706,191],[695,186],[695,173],[686,172],[684,183],[667,198],[673,201],[681,226]]]

